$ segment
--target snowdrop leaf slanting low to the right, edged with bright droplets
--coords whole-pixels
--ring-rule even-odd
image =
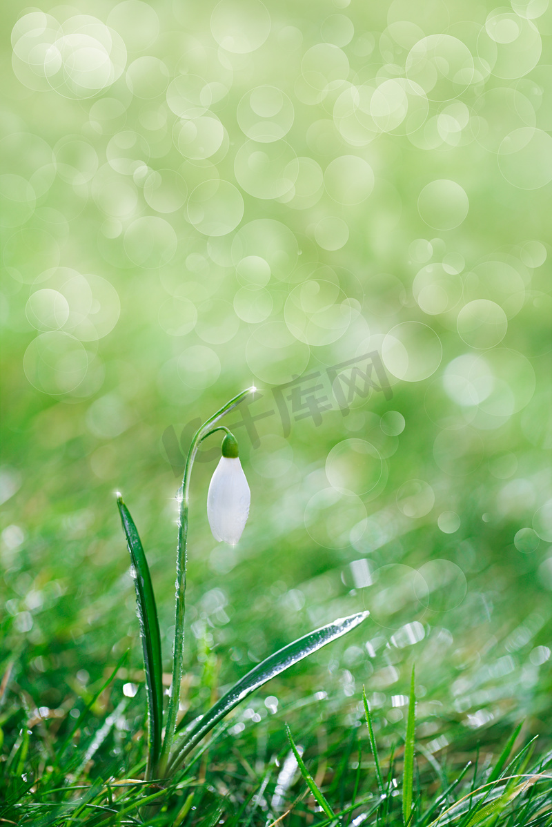
[[[232,686],[231,690],[226,692],[226,695],[217,701],[207,714],[203,715],[190,729],[183,746],[175,750],[174,761],[184,758],[221,718],[250,696],[251,692],[259,689],[259,686],[263,686],[264,683],[292,667],[293,664],[302,661],[303,657],[326,646],[326,643],[331,643],[332,640],[355,629],[369,614],[368,611],[359,612],[359,614],[351,614],[350,617],[335,620],[327,626],[322,626],[321,629],[315,629],[314,632],[306,634],[303,638],[294,640],[293,643],[288,643],[288,646],[284,646],[279,652],[259,663]]]

